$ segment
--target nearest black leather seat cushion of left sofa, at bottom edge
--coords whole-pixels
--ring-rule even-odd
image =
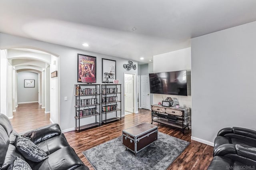
[[[56,150],[48,157],[48,159],[39,163],[28,163],[33,170],[73,170],[84,165],[76,152],[69,146]]]

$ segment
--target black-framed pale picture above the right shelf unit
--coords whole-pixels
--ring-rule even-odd
[[[116,79],[116,61],[102,58],[102,83],[112,83]]]

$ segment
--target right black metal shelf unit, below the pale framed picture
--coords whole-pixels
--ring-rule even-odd
[[[121,84],[102,84],[101,86],[101,123],[107,124],[121,120]],[[110,118],[110,112],[115,112],[115,117]]]

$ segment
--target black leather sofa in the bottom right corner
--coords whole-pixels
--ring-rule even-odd
[[[256,131],[221,129],[214,140],[213,156],[208,170],[256,169]]]

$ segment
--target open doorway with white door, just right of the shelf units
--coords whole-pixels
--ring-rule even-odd
[[[133,73],[124,73],[124,115],[135,113],[134,76]]]

